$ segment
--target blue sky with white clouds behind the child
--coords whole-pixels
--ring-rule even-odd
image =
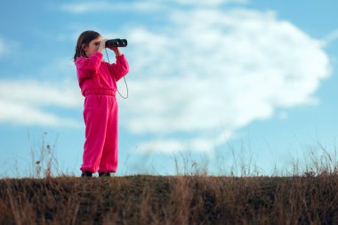
[[[337,138],[334,1],[7,1],[0,23],[0,176],[52,145],[78,174],[83,97],[71,58],[87,29],[128,39],[117,175],[303,168]],[[109,60],[114,60],[109,52]],[[125,93],[123,80],[118,83]],[[238,172],[237,174],[240,174]]]

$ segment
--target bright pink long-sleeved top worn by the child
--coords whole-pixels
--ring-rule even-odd
[[[109,64],[102,60],[101,52],[93,53],[89,58],[76,59],[76,72],[78,84],[82,95],[89,93],[103,93],[115,95],[117,81],[129,71],[125,55],[117,56],[117,63]]]

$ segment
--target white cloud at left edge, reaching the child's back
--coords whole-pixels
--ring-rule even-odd
[[[81,104],[81,95],[67,83],[0,80],[0,122],[76,127],[76,120],[59,117],[45,108],[79,108]]]

